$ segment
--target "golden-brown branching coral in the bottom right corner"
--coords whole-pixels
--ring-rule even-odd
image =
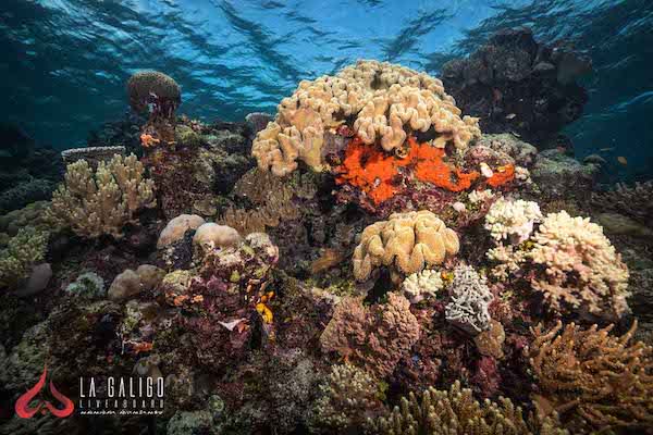
[[[535,402],[557,410],[575,433],[653,425],[653,348],[629,344],[637,322],[620,337],[612,328],[563,328],[559,321],[531,328],[530,364],[542,391]]]

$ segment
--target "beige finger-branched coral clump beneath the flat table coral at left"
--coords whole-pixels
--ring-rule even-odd
[[[52,196],[51,216],[83,237],[120,238],[137,211],[156,206],[153,182],[144,172],[134,154],[100,162],[95,174],[85,160],[71,163]]]

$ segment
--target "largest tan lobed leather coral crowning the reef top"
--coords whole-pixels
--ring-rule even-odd
[[[293,172],[297,159],[321,171],[324,130],[346,119],[354,120],[366,144],[379,142],[385,151],[401,148],[410,132],[433,130],[436,147],[452,142],[458,150],[481,134],[478,119],[460,117],[438,78],[387,62],[358,61],[335,76],[299,83],[279,104],[274,122],[257,135],[251,152],[259,167],[278,176]]]

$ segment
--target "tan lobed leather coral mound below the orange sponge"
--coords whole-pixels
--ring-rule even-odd
[[[440,264],[447,254],[458,252],[460,244],[428,210],[393,213],[387,221],[375,222],[362,232],[354,250],[354,276],[365,281],[378,265],[409,275],[428,265]]]

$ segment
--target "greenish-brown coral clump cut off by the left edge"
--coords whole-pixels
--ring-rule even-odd
[[[46,254],[49,234],[25,227],[0,252],[0,287],[15,288]]]

